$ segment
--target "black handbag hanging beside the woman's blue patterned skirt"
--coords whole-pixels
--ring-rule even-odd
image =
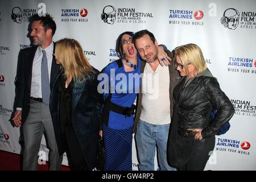
[[[104,170],[105,164],[105,148],[103,137],[98,137],[98,153],[97,153],[97,166],[98,171]]]

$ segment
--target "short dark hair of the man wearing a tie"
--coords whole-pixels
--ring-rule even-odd
[[[52,16],[49,14],[39,16],[38,14],[34,14],[30,16],[28,19],[30,23],[34,21],[41,21],[44,27],[44,31],[48,30],[49,28],[52,30],[52,36],[55,34],[56,31],[56,23],[53,20]]]

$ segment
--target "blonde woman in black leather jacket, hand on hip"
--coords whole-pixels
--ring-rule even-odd
[[[174,64],[183,78],[174,89],[168,161],[179,170],[203,171],[214,149],[215,135],[233,116],[234,107],[196,44],[177,47]],[[217,115],[210,119],[213,107]]]

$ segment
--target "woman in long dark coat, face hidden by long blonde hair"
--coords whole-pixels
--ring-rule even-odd
[[[60,155],[67,152],[72,170],[96,167],[102,95],[97,92],[97,69],[77,40],[56,42],[56,63],[61,72],[53,82],[50,109]]]

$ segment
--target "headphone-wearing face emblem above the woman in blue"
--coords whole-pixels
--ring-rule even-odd
[[[114,24],[116,19],[117,10],[114,6],[105,6],[102,10],[101,19],[104,23]]]

